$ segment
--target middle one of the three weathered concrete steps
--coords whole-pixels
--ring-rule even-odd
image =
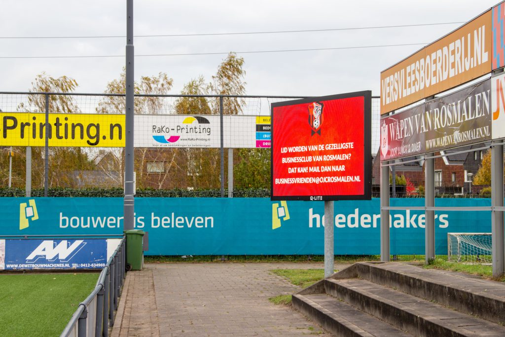
[[[344,301],[413,335],[505,336],[501,325],[366,279],[328,278],[324,287],[327,294],[335,297],[334,302]]]

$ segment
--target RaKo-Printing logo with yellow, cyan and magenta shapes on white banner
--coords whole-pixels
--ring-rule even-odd
[[[176,127],[170,128],[169,126],[158,126],[153,125],[153,133],[170,133],[174,132],[177,135],[171,135],[167,138],[166,135],[154,135],[153,139],[162,144],[175,143],[177,140],[181,138],[181,134],[201,134],[206,133],[207,135],[211,134],[210,127],[203,127],[201,124],[210,124],[209,120],[205,117],[201,116],[192,116],[186,117],[182,121],[181,125],[177,125]]]

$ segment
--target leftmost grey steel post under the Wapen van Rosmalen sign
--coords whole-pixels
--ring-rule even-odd
[[[388,262],[389,256],[389,166],[380,167],[380,260]]]

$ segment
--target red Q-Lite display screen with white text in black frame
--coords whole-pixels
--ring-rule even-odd
[[[272,104],[272,200],[371,195],[371,92]]]

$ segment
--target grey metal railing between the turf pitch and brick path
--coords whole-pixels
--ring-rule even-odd
[[[119,297],[126,276],[126,239],[123,237],[106,266],[100,272],[91,294],[77,307],[60,337],[109,335],[114,325],[114,311],[118,309]]]

